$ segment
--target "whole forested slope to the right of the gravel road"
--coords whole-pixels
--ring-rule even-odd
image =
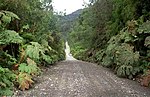
[[[92,0],[69,35],[73,55],[150,82],[150,1]]]

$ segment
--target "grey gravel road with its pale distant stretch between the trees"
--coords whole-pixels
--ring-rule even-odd
[[[66,60],[43,74],[24,97],[150,97],[150,89],[135,81],[118,78],[96,64],[76,60],[66,42]],[[20,97],[22,97],[20,96]]]

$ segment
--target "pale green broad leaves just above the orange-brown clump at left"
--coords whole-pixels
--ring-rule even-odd
[[[58,57],[53,53],[54,52],[56,53],[56,51],[54,51],[47,44],[47,42],[45,42],[45,43],[46,44],[44,44],[44,46],[43,46],[37,42],[31,42],[31,45],[28,45],[27,49],[26,49],[27,57],[30,57],[31,59],[33,59],[35,61],[42,59],[42,61],[44,60],[45,62],[47,62],[49,64],[52,64],[53,62],[55,62],[55,60],[57,60]]]

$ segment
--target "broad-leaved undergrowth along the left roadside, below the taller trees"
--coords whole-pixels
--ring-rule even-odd
[[[19,32],[8,29],[10,23],[20,18],[10,11],[0,11],[0,96],[13,95],[15,87],[26,90],[34,84],[34,77],[41,74],[41,66],[53,64],[64,59],[63,43],[55,37],[33,41],[36,35],[27,31],[29,25]],[[33,38],[34,37],[34,38]],[[42,42],[41,42],[42,41]],[[59,44],[60,47],[51,44]]]

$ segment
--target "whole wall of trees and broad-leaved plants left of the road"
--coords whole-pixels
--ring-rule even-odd
[[[63,60],[51,0],[0,0],[0,96],[29,89],[41,67]]]

